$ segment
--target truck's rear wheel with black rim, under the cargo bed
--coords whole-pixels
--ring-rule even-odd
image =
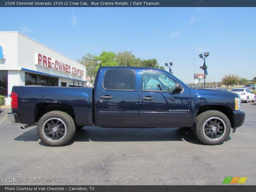
[[[76,131],[74,120],[62,111],[50,111],[38,121],[37,134],[41,141],[52,147],[66,145]]]

